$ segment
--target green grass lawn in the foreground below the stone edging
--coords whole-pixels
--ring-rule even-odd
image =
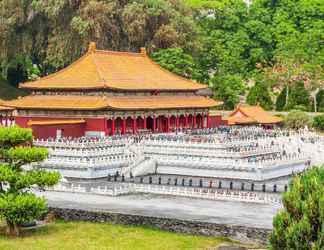
[[[157,229],[99,224],[62,222],[23,233],[19,238],[0,234],[1,250],[178,250],[208,249],[229,240],[193,236]]]

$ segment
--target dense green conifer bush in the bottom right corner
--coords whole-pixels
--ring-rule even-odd
[[[324,167],[312,167],[294,177],[283,194],[283,210],[273,219],[269,248],[324,247]]]

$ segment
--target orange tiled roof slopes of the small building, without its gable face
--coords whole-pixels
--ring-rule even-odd
[[[282,118],[271,115],[267,111],[265,111],[261,106],[247,106],[247,105],[238,105],[237,108],[230,114],[230,117],[240,111],[246,117],[255,120],[255,123],[260,124],[273,124],[282,122]],[[230,118],[229,117],[229,118]],[[242,117],[239,117],[242,118]]]

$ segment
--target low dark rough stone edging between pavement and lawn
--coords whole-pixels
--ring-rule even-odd
[[[140,225],[194,235],[223,236],[244,243],[265,245],[271,230],[245,226],[234,226],[172,218],[149,217],[132,214],[119,214],[104,211],[87,211],[50,207],[56,218],[66,221],[91,221],[122,225]]]

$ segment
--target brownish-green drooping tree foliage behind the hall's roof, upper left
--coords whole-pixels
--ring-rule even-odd
[[[0,62],[25,54],[41,63],[42,74],[75,61],[90,41],[100,49],[194,52],[199,40],[192,10],[182,1],[1,0],[0,20]]]

